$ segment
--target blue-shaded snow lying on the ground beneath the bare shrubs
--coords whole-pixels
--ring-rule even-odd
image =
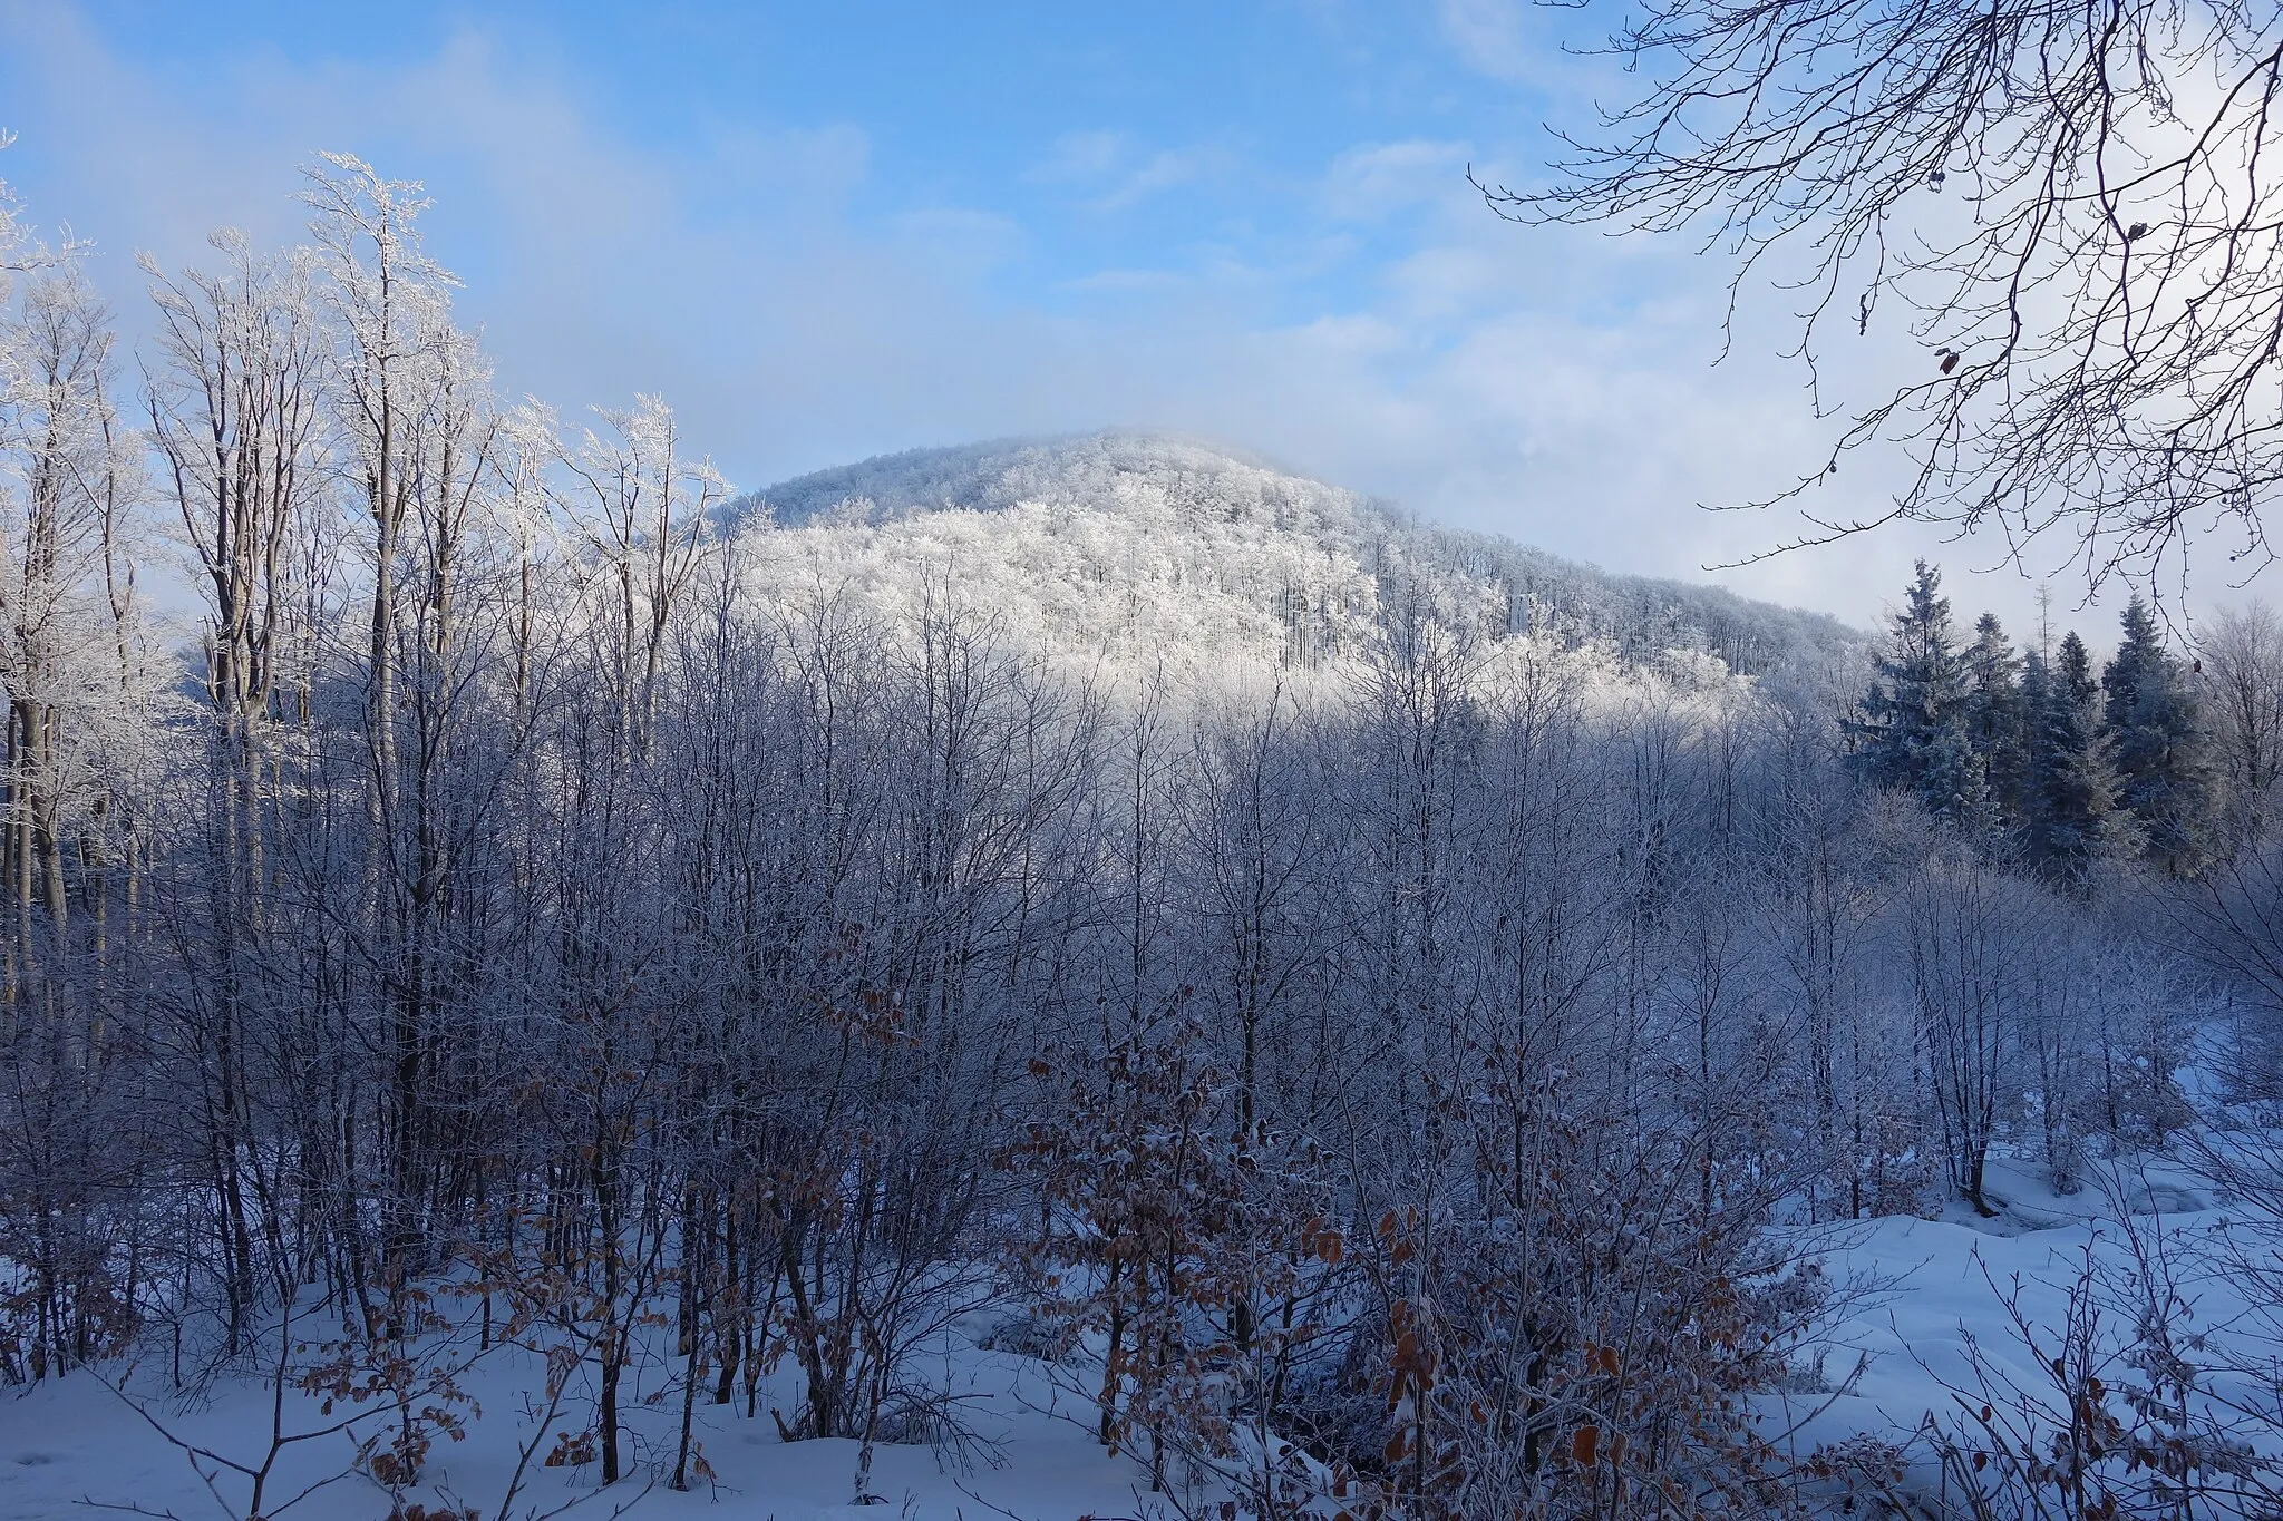
[[[2162,1234],[2183,1250],[2180,1284],[2192,1304],[2194,1332],[2215,1339],[2237,1334],[2246,1320],[2244,1293],[2212,1263],[2235,1245],[2258,1245],[2256,1229],[2233,1218],[2224,1199],[2210,1195],[2189,1172],[2162,1163],[2112,1170],[2107,1186],[2089,1181],[2075,1195],[2055,1195],[2034,1168],[1991,1163],[1995,1218],[1977,1218],[1952,1206],[1936,1220],[1888,1218],[1824,1227],[1820,1250],[1826,1272],[1840,1286],[1838,1309],[1820,1339],[1820,1377],[1801,1377],[1801,1389],[1769,1396],[1762,1418],[1778,1446],[1808,1453],[1815,1443],[1854,1434],[1906,1441],[1927,1412],[1954,1412],[1947,1386],[1973,1389],[1968,1361],[1973,1341],[1984,1368],[2020,1386],[2041,1382],[2032,1352],[2007,1325],[2000,1293],[2018,1295],[2018,1309],[2050,1345],[2052,1327],[2068,1307],[2068,1286],[2087,1252],[2109,1270],[2128,1261],[2128,1243],[2112,1211],[2128,1197],[2144,1238]],[[2276,1241],[2265,1241],[2272,1252]],[[961,1462],[957,1453],[925,1446],[879,1446],[872,1494],[884,1507],[854,1505],[856,1443],[785,1443],[769,1421],[769,1405],[788,1421],[799,1396],[797,1375],[779,1370],[763,1384],[758,1418],[735,1405],[696,1405],[696,1437],[715,1482],[673,1494],[671,1471],[680,1398],[671,1389],[667,1359],[630,1373],[628,1469],[630,1480],[598,1489],[596,1469],[539,1469],[537,1455],[514,1514],[500,1516],[500,1498],[516,1464],[516,1448],[537,1430],[527,1407],[539,1384],[534,1361],[518,1350],[495,1350],[463,1380],[482,1407],[461,1443],[436,1443],[427,1482],[416,1494],[427,1503],[452,1498],[473,1505],[484,1521],[548,1514],[580,1500],[571,1514],[610,1516],[626,1507],[637,1516],[767,1516],[772,1521],[822,1521],[826,1516],[897,1516],[904,1521],[1071,1521],[1075,1516],[1164,1516],[1185,1507],[1146,1491],[1146,1471],[1126,1457],[1110,1457],[1091,1437],[1091,1405],[1082,1366],[1050,1366],[991,1352],[991,1316],[963,1323],[936,1350],[934,1377],[961,1396],[979,1437],[979,1450]],[[269,1430],[269,1391],[253,1380],[224,1380],[205,1400],[164,1396],[164,1380],[151,1400],[158,1416],[185,1441],[212,1446],[244,1462],[260,1462]],[[151,1386],[151,1370],[137,1375]],[[655,1400],[655,1402],[648,1402]],[[324,1425],[315,1402],[290,1396],[288,1430]],[[559,1416],[552,1425],[575,1430],[584,1421]],[[363,1428],[370,1430],[370,1428]],[[269,1514],[308,1521],[384,1516],[388,1500],[365,1478],[342,1478],[292,1510],[276,1500],[304,1485],[347,1469],[349,1437],[331,1437],[295,1448],[272,1480]],[[539,1446],[546,1450],[550,1441]],[[1934,1455],[1920,1443],[1911,1459],[1911,1482],[1931,1482]],[[648,1485],[648,1489],[644,1489]],[[242,1494],[233,1480],[226,1494]],[[100,1514],[91,1507],[142,1507],[174,1512],[185,1521],[226,1514],[208,1496],[189,1462],[103,1382],[73,1373],[30,1393],[0,1396],[0,1516],[46,1521]],[[235,1514],[244,1514],[242,1510]]]

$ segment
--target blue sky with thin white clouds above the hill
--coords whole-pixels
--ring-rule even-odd
[[[1785,522],[1696,504],[1781,486],[1820,433],[1781,303],[1715,367],[1717,260],[1509,226],[1468,187],[1541,176],[1541,123],[1612,87],[1559,25],[1527,0],[0,0],[0,178],[96,242],[132,331],[135,251],[288,242],[295,166],[354,151],[429,187],[509,390],[566,417],[660,390],[740,486],[1171,426],[1708,579]],[[1961,604],[2027,609],[1904,534],[1710,579],[1870,623],[1929,547]]]

